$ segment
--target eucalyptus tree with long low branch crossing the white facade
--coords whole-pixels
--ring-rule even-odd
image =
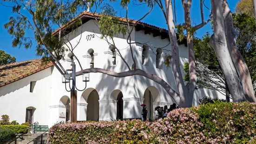
[[[115,0],[110,1],[116,2]],[[179,66],[179,51],[171,0],[165,0],[166,11],[164,10],[164,6],[161,1],[139,0],[141,3],[147,3],[149,10],[145,12],[143,17],[141,17],[135,23],[132,23],[132,26],[130,26],[131,21],[129,21],[127,18],[128,4],[130,3],[129,0],[120,1],[120,6],[126,9],[126,20],[119,19],[117,17],[117,13],[114,11],[111,5],[105,5],[103,2],[104,0],[4,0],[4,5],[7,7],[12,7],[13,10],[13,14],[9,18],[9,22],[5,24],[5,28],[7,28],[8,33],[13,36],[13,47],[25,46],[25,48],[30,48],[32,46],[33,39],[35,39],[38,43],[36,47],[37,55],[43,57],[43,64],[52,61],[53,65],[59,70],[60,73],[66,73],[66,70],[60,64],[59,60],[65,57],[65,52],[67,51],[72,52],[74,57],[77,59],[73,50],[78,46],[82,36],[81,32],[78,44],[72,46],[67,38],[66,30],[71,29],[72,33],[80,33],[78,32],[78,27],[81,26],[82,23],[80,17],[77,16],[79,11],[87,9],[88,3],[90,3],[90,7],[96,8],[103,5],[103,11],[100,13],[101,15],[93,13],[95,18],[96,15],[100,18],[99,20],[95,20],[98,20],[98,28],[101,33],[101,38],[105,39],[109,45],[118,50],[113,38],[120,33],[123,35],[128,33],[127,43],[130,45],[133,64],[129,65],[119,51],[118,54],[127,66],[128,71],[118,73],[101,68],[84,69],[80,64],[79,59],[77,59],[81,70],[76,72],[76,76],[82,75],[82,72],[99,72],[118,78],[140,75],[161,85],[180,107],[190,107],[192,105],[192,97],[196,83],[194,68],[195,61],[194,59],[190,59],[190,63],[193,64],[191,65],[190,77],[191,79],[194,79],[190,91],[190,86],[184,85],[184,79]],[[175,92],[171,86],[164,81],[164,79],[161,79],[157,75],[138,69],[136,67],[135,55],[133,54],[133,50],[131,48],[131,44],[140,43],[131,41],[131,33],[134,30],[134,26],[148,16],[149,13],[151,13],[155,3],[158,3],[158,6],[161,6],[168,25],[172,55],[166,57],[169,59],[167,59],[165,63],[171,65],[172,67],[173,73],[171,72],[167,74],[174,74],[178,92]],[[127,26],[121,24],[120,20],[122,22],[126,22]],[[61,33],[59,33],[59,37],[52,34],[56,28],[59,28],[61,31]],[[33,38],[31,36],[27,36],[28,31],[33,32]],[[191,33],[191,35],[193,34]],[[194,57],[193,50],[189,50],[189,53],[191,57]]]

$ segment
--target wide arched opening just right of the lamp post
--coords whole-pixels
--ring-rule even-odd
[[[86,120],[98,121],[99,118],[99,96],[98,92],[93,88],[87,88],[83,93],[80,102],[86,102]],[[81,111],[84,112],[84,111]]]

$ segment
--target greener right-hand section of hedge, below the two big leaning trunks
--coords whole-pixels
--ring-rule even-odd
[[[217,102],[192,109],[204,124],[204,136],[211,144],[256,142],[256,103]]]

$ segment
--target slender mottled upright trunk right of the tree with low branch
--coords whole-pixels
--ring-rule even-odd
[[[190,21],[190,8],[191,8],[192,0],[182,0],[182,6],[184,8],[184,17],[185,17],[185,26],[187,30],[187,43],[188,43],[188,53],[189,53],[189,74],[190,74],[190,83],[188,84],[188,95],[186,99],[191,101],[188,107],[192,106],[192,100],[195,92],[195,88],[197,85],[197,75],[196,75],[196,64],[195,64],[195,49],[193,44],[193,33],[191,33],[188,29],[191,27]],[[203,20],[202,20],[203,21]]]

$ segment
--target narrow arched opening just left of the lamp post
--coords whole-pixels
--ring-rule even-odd
[[[63,96],[59,100],[59,121],[68,122],[70,120],[70,98]]]

